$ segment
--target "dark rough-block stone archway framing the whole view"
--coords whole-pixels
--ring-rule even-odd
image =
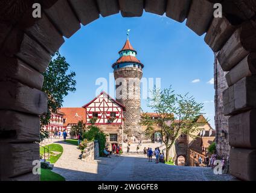
[[[42,18],[32,17],[40,2]],[[41,92],[50,54],[80,28],[98,17],[121,12],[141,16],[143,10],[164,14],[186,25],[217,53],[228,74],[223,112],[229,118],[231,174],[256,180],[256,3],[222,0],[223,17],[213,17],[216,0],[4,0],[0,2],[0,180],[39,180],[31,174],[39,159],[39,118],[46,112]],[[220,131],[217,131],[217,139]],[[28,152],[30,153],[28,156]],[[246,160],[246,163],[244,162]],[[22,165],[21,165],[22,164]],[[19,169],[16,169],[19,168]]]

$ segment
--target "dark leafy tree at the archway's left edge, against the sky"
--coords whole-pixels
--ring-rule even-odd
[[[68,95],[68,92],[75,91],[75,72],[71,71],[68,74],[68,68],[69,64],[65,57],[57,51],[51,56],[51,62],[46,71],[42,73],[44,77],[42,91],[48,95],[48,112],[40,116],[41,127],[49,124],[51,113],[57,113],[57,110],[62,107],[63,98]],[[40,140],[47,137],[48,134],[41,130]]]

